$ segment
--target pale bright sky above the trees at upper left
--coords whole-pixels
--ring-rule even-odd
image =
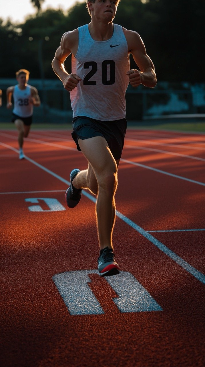
[[[76,2],[85,3],[85,0],[45,0],[42,5],[42,10],[45,10],[48,7],[58,9],[59,7],[62,10],[68,10],[71,8]],[[30,0],[6,0],[1,1],[3,6],[1,5],[0,18],[6,20],[10,17],[12,22],[22,23],[26,17],[26,15],[35,14],[36,10],[31,4]]]

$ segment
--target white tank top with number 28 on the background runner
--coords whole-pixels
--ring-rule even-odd
[[[27,84],[25,89],[19,89],[18,85],[14,87],[14,109],[13,113],[19,117],[30,117],[33,115],[33,104],[29,103],[31,97],[31,86]]]

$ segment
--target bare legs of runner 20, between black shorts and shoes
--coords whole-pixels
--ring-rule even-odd
[[[115,223],[116,162],[103,137],[79,139],[79,146],[89,161],[88,169],[73,180],[75,188],[88,188],[97,194],[96,216],[100,249],[113,248],[112,232]],[[96,185],[97,182],[97,185]],[[97,191],[96,191],[97,188]]]

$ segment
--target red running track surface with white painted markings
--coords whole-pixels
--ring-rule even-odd
[[[1,366],[204,367],[205,135],[127,131],[110,283],[93,197],[65,206],[86,168],[70,131],[31,131],[22,161],[16,138],[0,132]]]

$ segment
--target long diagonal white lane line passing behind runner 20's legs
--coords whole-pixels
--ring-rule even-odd
[[[3,143],[1,143],[1,144],[3,144]],[[4,144],[4,145],[6,145],[6,144]],[[15,148],[10,147],[9,145],[7,145],[7,147],[16,151]],[[27,159],[31,163],[35,164],[35,166],[41,168],[45,172],[49,173],[53,177],[55,177],[55,178],[59,179],[60,181],[66,183],[67,186],[70,186],[70,182],[69,181],[67,181],[63,177],[60,177],[55,172],[52,172],[51,170],[48,170],[48,168],[42,166],[41,164],[37,163],[36,161],[34,161],[33,159],[30,159],[27,156],[25,156],[25,159]],[[91,194],[89,194],[88,192],[86,192],[84,190],[82,191],[82,193],[88,199],[90,199],[91,201],[93,201],[94,203],[96,203],[96,197],[92,196]],[[162,252],[164,252],[164,254],[166,254],[169,258],[171,258],[172,260],[174,260],[178,265],[180,265],[188,273],[190,273],[196,279],[198,279],[199,281],[201,281],[201,283],[205,284],[205,275],[204,274],[202,274],[201,272],[199,272],[197,269],[195,269],[193,266],[191,266],[188,262],[184,261],[181,257],[179,257],[178,255],[176,255],[175,252],[171,251],[167,246],[165,246],[163,243],[161,243],[160,241],[158,241],[155,237],[153,237],[152,235],[150,235],[150,233],[146,232],[143,228],[141,228],[140,226],[138,226],[137,224],[135,224],[133,221],[131,221],[131,219],[127,218],[125,215],[123,215],[122,213],[120,213],[117,210],[116,210],[116,215],[117,215],[117,217],[119,217],[120,219],[122,219],[126,224],[128,224],[130,227],[134,228],[143,237],[145,237],[151,243],[153,243],[154,246],[156,246],[157,248],[159,248]]]

